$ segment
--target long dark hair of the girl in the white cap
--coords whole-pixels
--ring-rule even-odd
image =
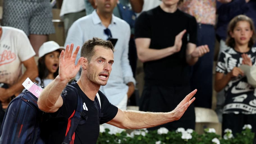
[[[41,79],[41,84],[43,84],[44,79],[49,74],[49,71],[45,65],[45,55],[42,56],[41,58],[39,58],[37,67],[38,67],[38,72],[39,72],[38,77]],[[59,74],[59,68],[56,70],[56,72],[54,72],[53,77],[55,78],[56,76],[58,76],[58,74]]]

